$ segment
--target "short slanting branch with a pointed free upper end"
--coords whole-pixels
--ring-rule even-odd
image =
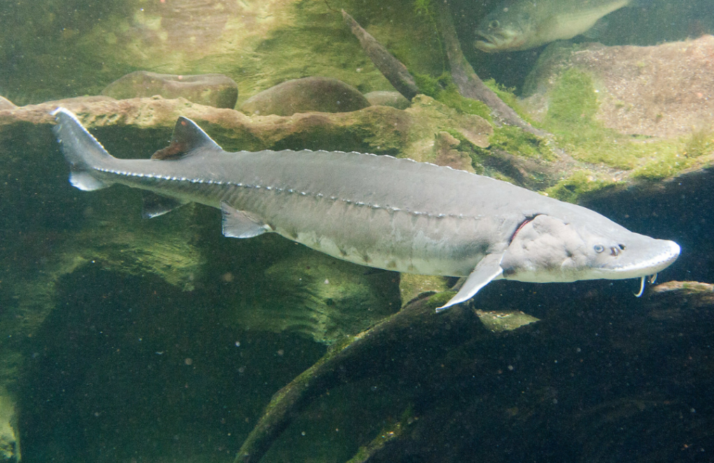
[[[406,66],[389,53],[371,34],[365,31],[345,10],[342,10],[342,17],[377,69],[381,71],[399,93],[411,101],[419,93],[419,88]]]

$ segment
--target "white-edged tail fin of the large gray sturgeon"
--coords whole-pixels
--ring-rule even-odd
[[[59,107],[51,113],[57,125],[52,128],[70,167],[69,183],[84,191],[106,188],[110,184],[97,176],[102,161],[114,159],[99,141],[80,124],[69,109]]]

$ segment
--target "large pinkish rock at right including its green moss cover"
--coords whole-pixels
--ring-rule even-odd
[[[693,110],[701,105],[688,103],[685,96],[677,97],[682,101],[670,101],[677,94],[678,84],[674,82],[678,74],[687,76],[687,73],[699,72],[697,66],[707,66],[705,61],[694,58],[699,56],[698,52],[691,50],[708,49],[710,41],[703,39],[696,43],[642,49],[598,47],[553,44],[541,54],[538,66],[528,76],[524,92],[532,96],[525,103],[534,111],[538,124],[555,134],[560,148],[583,163],[582,173],[564,175],[557,185],[550,186],[548,194],[578,201],[581,195],[599,194],[612,184],[647,184],[712,165],[714,136],[706,118],[688,132],[678,123],[687,116],[687,104],[692,105]],[[640,61],[636,61],[638,53]],[[677,56],[690,61],[680,66]],[[668,66],[670,61],[672,66]],[[698,81],[690,80],[682,84],[685,88],[692,86],[689,94],[705,95],[697,93],[702,91],[696,87]],[[628,93],[623,96],[623,91]],[[615,95],[632,101],[619,101]],[[664,111],[662,108],[669,106],[673,114],[653,113],[655,108]],[[654,121],[650,121],[649,116]],[[618,119],[627,121],[620,125],[629,131],[623,129],[620,133],[605,126],[613,126]],[[662,122],[660,126],[679,125],[676,130],[661,129],[661,134],[675,131],[678,135],[624,134],[647,133],[653,124],[656,126],[658,121],[665,120],[668,124]],[[691,125],[685,124],[686,127]]]

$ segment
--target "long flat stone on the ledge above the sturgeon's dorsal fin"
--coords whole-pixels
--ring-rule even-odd
[[[233,109],[238,100],[238,85],[222,74],[181,76],[136,71],[112,82],[101,94],[116,99],[154,95],[166,99],[183,97],[205,106]]]

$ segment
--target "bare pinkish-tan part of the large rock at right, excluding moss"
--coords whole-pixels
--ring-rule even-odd
[[[623,134],[675,137],[714,124],[714,36],[657,46],[555,43],[526,79],[526,104],[545,114],[560,76],[592,76],[595,118]]]

